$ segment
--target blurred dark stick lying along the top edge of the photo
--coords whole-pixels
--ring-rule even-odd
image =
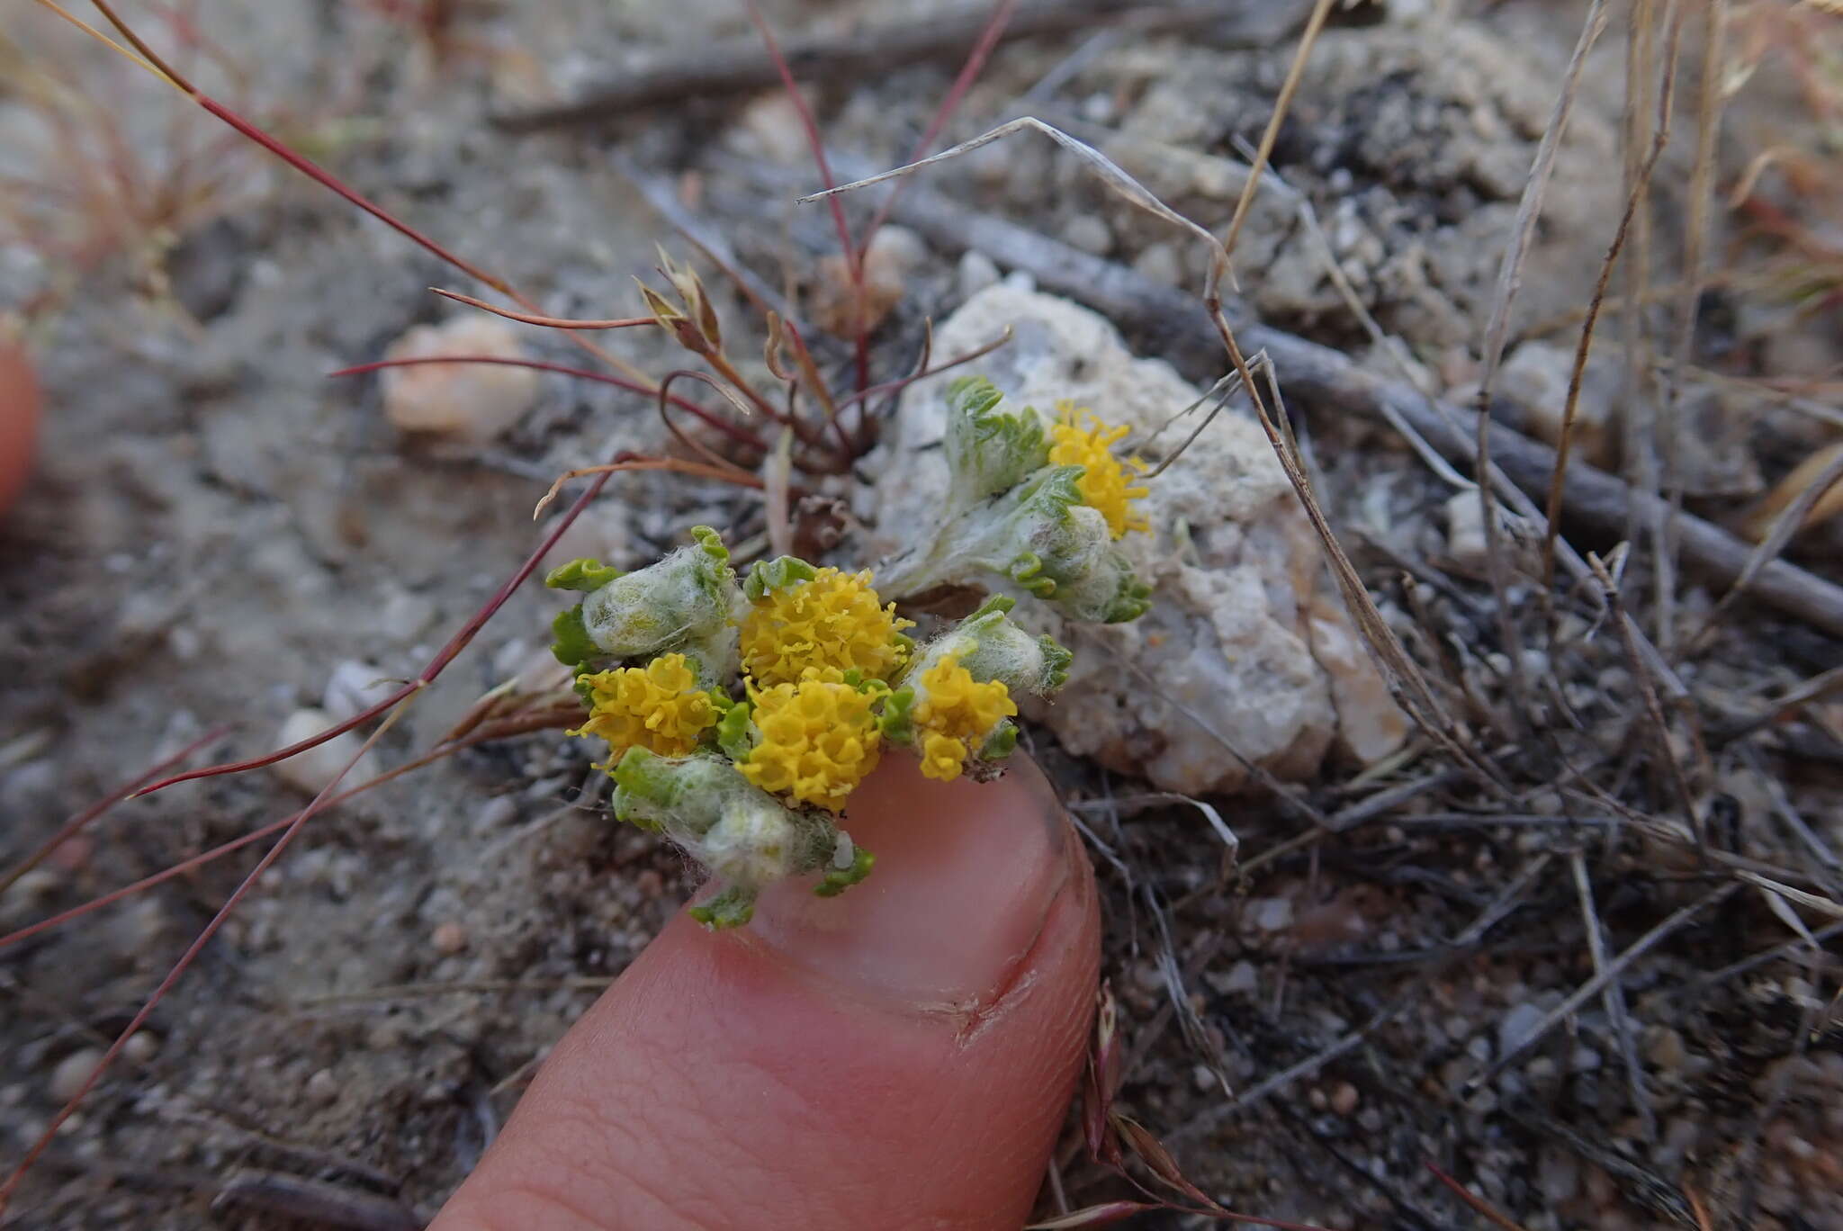
[[[1021,4],[1004,28],[1003,42],[1036,35],[1093,29],[1108,20],[1132,20],[1137,29],[1215,26],[1216,42],[1270,46],[1285,39],[1305,15],[1305,0],[1034,0]],[[984,4],[916,22],[872,26],[842,35],[805,35],[781,46],[794,77],[837,83],[916,63],[960,59],[980,39],[992,9]],[[732,39],[695,46],[590,94],[498,116],[514,133],[601,123],[641,107],[763,90],[780,81],[761,42]]]

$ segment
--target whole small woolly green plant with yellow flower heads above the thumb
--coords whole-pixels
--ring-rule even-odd
[[[1003,590],[1076,619],[1145,612],[1148,588],[1113,545],[1146,527],[1132,509],[1139,466],[1113,453],[1122,437],[1073,405],[1049,420],[990,381],[951,385],[947,505],[885,592],[977,580],[1001,593],[922,645],[870,569],[780,557],[739,579],[710,527],[634,573],[573,560],[546,577],[584,595],[557,617],[553,651],[588,711],[571,733],[608,744],[616,816],[724,883],[695,918],[743,925],[761,888],[791,875],[816,875],[820,896],[863,881],[875,857],[839,822],[885,752],[942,781],[997,776],[1017,697],[1051,697],[1071,662],[1012,621],[1019,599]]]

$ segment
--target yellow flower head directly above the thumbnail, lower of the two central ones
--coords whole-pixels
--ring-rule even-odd
[[[837,813],[877,767],[883,735],[870,708],[886,691],[859,691],[835,667],[807,667],[798,684],[756,689],[761,743],[737,768],[763,791]]]

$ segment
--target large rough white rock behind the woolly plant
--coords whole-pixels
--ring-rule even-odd
[[[1187,418],[1152,440],[1198,391],[1167,363],[1135,359],[1102,317],[1051,295],[988,287],[936,330],[934,346],[938,354],[971,350],[1006,326],[1014,328],[1008,346],[951,376],[982,374],[1043,411],[1062,398],[1091,407],[1132,426],[1128,444],[1148,459],[1176,448],[1194,426]],[[936,446],[951,376],[905,393],[886,446],[870,459],[868,470],[881,475],[866,501],[877,527],[874,553],[894,555],[933,523],[945,488],[947,464]],[[1309,778],[1332,743],[1336,704],[1345,698],[1355,743],[1375,754],[1390,719],[1355,708],[1386,700],[1386,689],[1351,687],[1334,700],[1336,676],[1366,671],[1368,658],[1353,658],[1336,636],[1342,604],[1321,601],[1329,582],[1318,540],[1261,428],[1220,415],[1150,487],[1141,507],[1154,533],[1121,540],[1156,586],[1145,617],[1071,627],[1039,604],[1019,604],[1023,621],[1076,654],[1067,687],[1034,717],[1069,752],[1187,794],[1248,783],[1224,741],[1281,778]],[[1345,628],[1344,636],[1355,634]],[[1314,643],[1332,649],[1331,671],[1314,660]]]

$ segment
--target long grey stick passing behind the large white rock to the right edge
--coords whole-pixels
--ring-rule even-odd
[[[770,175],[767,168],[763,175]],[[1047,291],[1067,295],[1121,322],[1154,334],[1161,348],[1194,370],[1220,361],[1215,326],[1187,293],[1098,256],[1089,256],[1027,227],[969,210],[949,197],[912,186],[896,206],[894,219],[947,251],[977,249],[1003,267],[1019,269]],[[1226,310],[1229,306],[1226,304]],[[1449,461],[1471,464],[1476,415],[1449,402],[1425,398],[1403,381],[1379,378],[1329,346],[1248,322],[1229,311],[1250,350],[1264,350],[1292,398],[1366,418],[1382,418],[1384,407],[1412,424]],[[1491,459],[1520,488],[1544,494],[1555,468],[1555,450],[1500,424],[1491,426]],[[1561,507],[1567,520],[1598,534],[1622,536],[1629,518],[1648,516],[1662,501],[1631,488],[1592,466],[1570,464]],[[1747,569],[1753,545],[1701,518],[1685,514],[1679,523],[1685,562],[1697,573],[1736,582]],[[1843,586],[1773,560],[1758,569],[1751,593],[1780,612],[1832,636],[1843,636]]]

